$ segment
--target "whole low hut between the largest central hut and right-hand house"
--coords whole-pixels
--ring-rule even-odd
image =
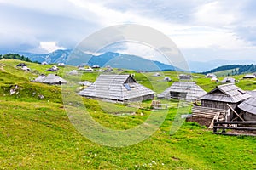
[[[199,100],[204,94],[207,94],[207,92],[196,85],[195,82],[173,82],[172,86],[166,88],[158,97]]]

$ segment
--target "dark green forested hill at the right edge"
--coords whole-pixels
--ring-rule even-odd
[[[201,72],[202,74],[225,71],[227,75],[239,75],[256,72],[256,65],[223,65],[211,71]]]

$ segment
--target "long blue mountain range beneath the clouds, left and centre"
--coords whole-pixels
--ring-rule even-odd
[[[18,52],[17,54],[24,55],[32,61],[46,61],[47,63],[67,63],[68,65],[81,65],[83,63],[90,66],[100,65],[101,67],[110,65],[114,68],[125,68],[140,71],[183,71],[175,66],[166,65],[159,61],[144,59],[137,55],[119,54],[113,52],[108,52],[96,56],[86,54],[81,51],[74,51],[72,53],[72,50],[67,49],[56,50],[49,54],[32,54],[23,52]]]

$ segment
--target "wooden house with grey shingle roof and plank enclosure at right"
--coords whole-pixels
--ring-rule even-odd
[[[201,106],[193,106],[192,121],[210,128],[214,119],[230,121],[235,116],[233,110],[237,105],[250,97],[233,83],[219,85],[200,98]]]

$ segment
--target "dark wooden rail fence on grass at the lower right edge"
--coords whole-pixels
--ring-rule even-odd
[[[218,132],[219,129],[222,129],[222,131]],[[243,131],[243,132],[227,133],[225,132],[227,129]],[[252,133],[249,133],[249,132],[252,132]],[[238,136],[238,135],[256,136],[256,122],[218,122],[217,120],[214,120],[213,133],[230,135],[230,136]]]

